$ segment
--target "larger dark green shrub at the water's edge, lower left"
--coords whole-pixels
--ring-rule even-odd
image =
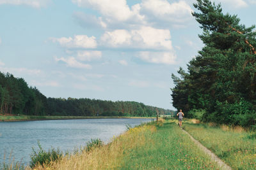
[[[44,166],[44,164],[49,164],[51,161],[57,161],[63,157],[63,153],[59,149],[52,148],[48,152],[42,149],[38,141],[39,150],[36,152],[35,148],[32,148],[30,167],[33,168],[36,164]]]

